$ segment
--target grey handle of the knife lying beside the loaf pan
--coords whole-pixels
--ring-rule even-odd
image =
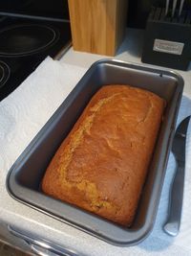
[[[177,170],[170,188],[168,218],[163,230],[170,236],[177,236],[180,231],[180,218],[183,200],[185,166],[177,162]]]

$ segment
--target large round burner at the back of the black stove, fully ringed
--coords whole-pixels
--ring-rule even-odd
[[[12,26],[0,31],[0,55],[19,57],[38,53],[58,37],[52,28],[44,25]]]

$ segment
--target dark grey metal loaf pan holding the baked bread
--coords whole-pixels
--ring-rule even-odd
[[[137,216],[131,228],[121,227],[68,203],[47,197],[39,190],[54,152],[74,126],[84,107],[97,89],[114,83],[145,88],[167,102],[158,142],[139,200]],[[174,72],[117,60],[97,61],[11,167],[7,178],[7,189],[11,196],[108,243],[138,244],[152,230],[156,218],[182,89],[183,80]]]

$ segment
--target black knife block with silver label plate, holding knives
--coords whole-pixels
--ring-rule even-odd
[[[141,60],[173,69],[187,70],[191,60],[191,16],[165,16],[164,9],[153,8],[146,23]]]

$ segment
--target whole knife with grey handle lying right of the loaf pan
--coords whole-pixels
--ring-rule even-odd
[[[163,230],[170,236],[177,236],[180,231],[180,218],[183,200],[183,185],[185,175],[185,144],[186,132],[190,117],[186,117],[175,132],[172,152],[177,163],[177,170],[170,188],[168,218]]]

